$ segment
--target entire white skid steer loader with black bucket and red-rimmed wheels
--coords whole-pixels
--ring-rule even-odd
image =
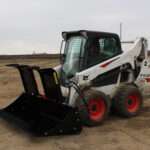
[[[61,65],[54,69],[9,65],[19,70],[25,92],[2,116],[19,118],[40,135],[80,133],[82,125],[101,124],[111,108],[123,117],[136,116],[150,94],[147,40],[139,38],[122,51],[114,33],[80,30],[62,37]],[[44,96],[33,70],[41,76]]]

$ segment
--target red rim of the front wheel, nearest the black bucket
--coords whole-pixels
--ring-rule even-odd
[[[103,118],[106,111],[106,105],[103,99],[89,100],[88,107],[91,120],[99,121]]]

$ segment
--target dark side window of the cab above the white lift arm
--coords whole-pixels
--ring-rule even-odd
[[[101,63],[122,52],[119,41],[114,37],[90,39],[87,51],[87,67]]]

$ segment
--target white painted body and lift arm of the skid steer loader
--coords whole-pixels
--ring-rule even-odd
[[[144,55],[145,59],[142,62],[138,62],[137,65],[141,66],[140,73],[138,77],[135,79],[133,77],[133,72],[132,70],[135,69],[135,61],[139,57],[141,50],[142,50],[142,45],[145,45],[144,47]],[[145,62],[147,65],[145,65]],[[147,45],[146,45],[146,40],[143,40],[143,38],[137,39],[132,48],[128,51],[123,52],[122,54],[113,57],[109,60],[106,60],[100,64],[97,64],[95,66],[92,66],[86,70],[83,70],[81,72],[77,72],[75,75],[75,80],[80,87],[83,86],[88,86],[90,85],[91,81],[95,79],[97,76],[104,74],[106,72],[109,72],[110,70],[113,70],[114,68],[119,67],[122,69],[125,64],[130,64],[131,66],[131,71],[128,70],[130,73],[128,75],[128,80],[125,83],[135,83],[142,93],[144,95],[149,95],[150,93],[150,59],[147,57]],[[113,76],[112,76],[113,77]],[[85,79],[86,78],[86,79]],[[92,89],[96,89],[98,91],[104,92],[106,95],[109,95],[110,97],[113,97],[117,87],[120,84],[123,84],[120,82],[121,78],[121,73],[118,75],[118,79],[116,83],[113,84],[108,84],[105,86],[100,86],[100,87],[94,87],[92,86]],[[148,79],[149,78],[149,79]],[[62,87],[62,92],[64,96],[68,96],[68,89],[65,87]],[[74,88],[70,90],[70,96],[69,96],[69,104],[74,106],[76,99],[78,97],[78,93]]]

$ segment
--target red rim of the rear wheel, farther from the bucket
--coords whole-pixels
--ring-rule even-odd
[[[140,106],[140,97],[138,94],[131,94],[126,101],[127,110],[131,113],[136,112]]]

